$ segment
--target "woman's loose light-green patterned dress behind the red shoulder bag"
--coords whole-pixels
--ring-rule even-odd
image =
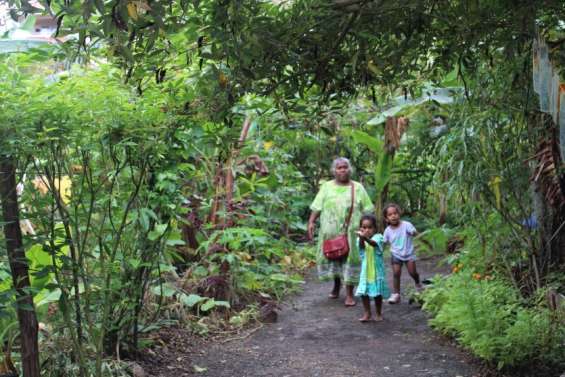
[[[351,206],[351,186],[340,186],[334,180],[328,181],[320,187],[320,191],[310,205],[314,212],[320,212],[320,232],[318,235],[318,253],[316,262],[320,280],[333,280],[341,278],[345,284],[354,285],[359,281],[361,259],[357,236],[359,221],[363,213],[373,213],[373,203],[359,182],[351,181],[355,185],[355,205],[349,225],[349,245],[351,250],[346,260],[328,260],[322,252],[322,243],[338,236],[347,220]]]

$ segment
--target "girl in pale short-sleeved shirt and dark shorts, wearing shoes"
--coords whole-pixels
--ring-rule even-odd
[[[402,265],[406,264],[408,273],[414,279],[416,289],[422,289],[420,275],[416,271],[416,254],[412,239],[418,234],[414,225],[408,221],[400,220],[402,210],[394,203],[387,204],[383,210],[383,215],[388,226],[384,233],[384,242],[390,244],[391,263],[393,272],[392,295],[388,300],[389,304],[400,302],[400,275]]]

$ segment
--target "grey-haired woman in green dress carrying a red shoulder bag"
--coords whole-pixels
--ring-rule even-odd
[[[335,159],[332,163],[332,173],[334,180],[322,184],[310,206],[312,213],[308,221],[308,238],[313,239],[316,219],[320,217],[316,258],[318,276],[322,281],[333,279],[334,287],[330,298],[339,297],[339,290],[343,282],[346,287],[345,306],[354,306],[353,287],[359,281],[361,266],[355,232],[363,212],[373,211],[373,203],[365,188],[359,182],[351,180],[351,164],[347,158]],[[324,256],[322,244],[324,240],[332,239],[343,232],[351,206],[351,185],[355,189],[355,203],[348,228],[349,255],[342,260],[329,260]]]

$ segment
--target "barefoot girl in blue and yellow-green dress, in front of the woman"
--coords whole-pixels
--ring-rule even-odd
[[[386,284],[383,263],[383,236],[377,234],[377,218],[373,215],[361,217],[359,236],[359,254],[361,256],[361,276],[357,286],[356,296],[361,296],[365,313],[359,319],[361,322],[372,320],[371,298],[375,299],[376,320],[382,321],[383,298],[388,298],[390,292]]]

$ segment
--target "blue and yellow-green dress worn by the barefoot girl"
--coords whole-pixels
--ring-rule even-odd
[[[375,234],[371,240],[377,243],[376,247],[365,242],[365,247],[362,248],[357,239],[361,256],[361,275],[355,296],[371,298],[383,296],[383,299],[387,299],[390,296],[390,290],[386,283],[386,270],[383,262],[383,236]]]

